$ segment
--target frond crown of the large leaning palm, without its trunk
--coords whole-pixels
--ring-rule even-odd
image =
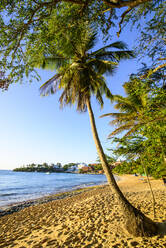
[[[114,42],[94,52],[96,34],[85,32],[78,44],[72,43],[72,52],[45,57],[42,67],[54,68],[56,74],[41,86],[41,94],[56,93],[61,89],[61,106],[77,104],[78,111],[86,111],[86,100],[95,95],[103,106],[103,93],[111,98],[103,74],[113,74],[121,59],[133,57],[123,42]],[[116,49],[118,51],[111,51]]]

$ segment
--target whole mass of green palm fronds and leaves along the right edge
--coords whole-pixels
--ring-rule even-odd
[[[165,173],[166,93],[153,80],[131,77],[124,84],[126,97],[114,96],[115,108],[120,113],[107,116],[114,117],[111,124],[117,125],[111,136],[126,130],[122,138],[113,139],[113,142],[118,143],[114,153],[125,157],[131,165],[135,161],[136,172],[142,173],[142,169],[146,167],[148,174],[159,178]],[[116,170],[125,173],[127,170],[130,173],[128,165]]]

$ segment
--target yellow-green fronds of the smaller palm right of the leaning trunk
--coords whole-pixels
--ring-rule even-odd
[[[165,101],[160,101],[160,104],[155,103],[155,97],[152,98],[149,94],[151,91],[150,82],[133,79],[131,82],[125,83],[123,87],[126,97],[113,96],[113,101],[116,102],[114,108],[119,112],[102,115],[102,117],[114,118],[110,124],[115,125],[116,128],[109,137],[123,131],[126,131],[124,136],[135,134],[151,122],[165,120]]]

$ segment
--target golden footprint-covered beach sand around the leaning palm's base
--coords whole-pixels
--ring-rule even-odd
[[[161,180],[151,183],[156,199],[155,221],[166,222],[166,187]],[[118,184],[127,199],[153,219],[146,180],[123,176]],[[0,247],[157,248],[166,247],[166,230],[151,238],[128,235],[116,197],[105,185],[0,217]]]

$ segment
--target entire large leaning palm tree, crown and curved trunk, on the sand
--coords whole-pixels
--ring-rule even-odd
[[[78,111],[88,110],[97,152],[108,183],[122,208],[126,229],[135,236],[149,236],[156,233],[156,224],[132,206],[120,191],[99,140],[91,107],[92,96],[96,97],[101,107],[103,94],[109,98],[112,97],[103,75],[106,73],[112,75],[118,62],[121,59],[133,57],[133,53],[126,50],[127,47],[123,42],[115,42],[92,51],[95,40],[96,34],[90,35],[86,32],[78,43],[72,43],[73,51],[70,56],[69,54],[65,56],[65,53],[61,52],[61,54],[45,57],[42,63],[43,68],[48,68],[49,65],[52,67],[54,64],[56,74],[41,86],[41,94],[55,94],[61,90],[59,101],[62,107],[76,104]]]

